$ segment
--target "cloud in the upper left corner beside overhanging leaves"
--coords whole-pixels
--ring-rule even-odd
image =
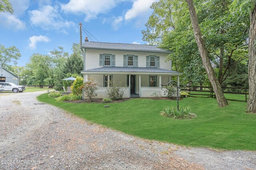
[[[0,24],[4,25],[4,27],[15,30],[24,29],[26,27],[26,23],[24,21],[21,21],[19,18],[28,9],[29,0],[10,0],[10,3],[12,3],[14,13],[12,15],[8,12],[1,12]]]

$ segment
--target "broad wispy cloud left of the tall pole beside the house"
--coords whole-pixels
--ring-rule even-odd
[[[46,5],[39,10],[29,11],[29,14],[32,25],[46,30],[55,29],[67,33],[64,28],[74,25],[72,21],[63,20],[60,14],[58,14],[58,6]]]

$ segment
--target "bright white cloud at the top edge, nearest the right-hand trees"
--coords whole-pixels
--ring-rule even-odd
[[[156,1],[158,0],[135,0],[132,4],[132,8],[124,15],[125,20],[147,15],[151,11],[150,6]]]

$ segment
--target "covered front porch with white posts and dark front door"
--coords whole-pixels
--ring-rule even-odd
[[[110,67],[108,70],[109,69]],[[181,74],[180,72],[160,68],[151,68],[151,72],[149,72],[149,70],[148,72],[122,72],[121,70],[115,72],[102,72],[99,70],[95,71],[95,69],[92,70],[82,71],[82,73],[84,74],[84,82],[86,82],[88,78],[94,78],[95,82],[98,84],[98,90],[96,92],[98,94],[97,98],[108,97],[106,90],[111,88],[111,80],[114,80],[115,82],[122,82],[124,98],[148,98],[156,95],[158,97],[164,97],[160,94],[162,89],[161,84],[167,84],[174,76],[177,77],[179,84],[179,75]]]

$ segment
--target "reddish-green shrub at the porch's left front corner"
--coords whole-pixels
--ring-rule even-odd
[[[85,82],[80,89],[84,89],[84,96],[88,97],[90,101],[92,102],[92,99],[97,96],[96,90],[98,84],[94,82],[93,78],[88,78],[88,82]]]

